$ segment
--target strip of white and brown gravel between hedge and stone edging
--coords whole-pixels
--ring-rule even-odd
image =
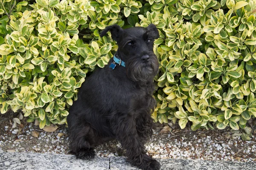
[[[33,123],[22,127],[12,128],[9,121],[0,127],[0,147],[4,151],[69,154],[66,127],[60,126],[52,133]],[[162,133],[163,127],[158,125],[145,145],[153,158],[256,162],[256,130],[250,141],[243,141],[228,129],[194,132],[190,127],[180,130],[175,124],[168,133]],[[95,151],[99,157],[124,156],[121,144],[115,140],[99,145]]]

